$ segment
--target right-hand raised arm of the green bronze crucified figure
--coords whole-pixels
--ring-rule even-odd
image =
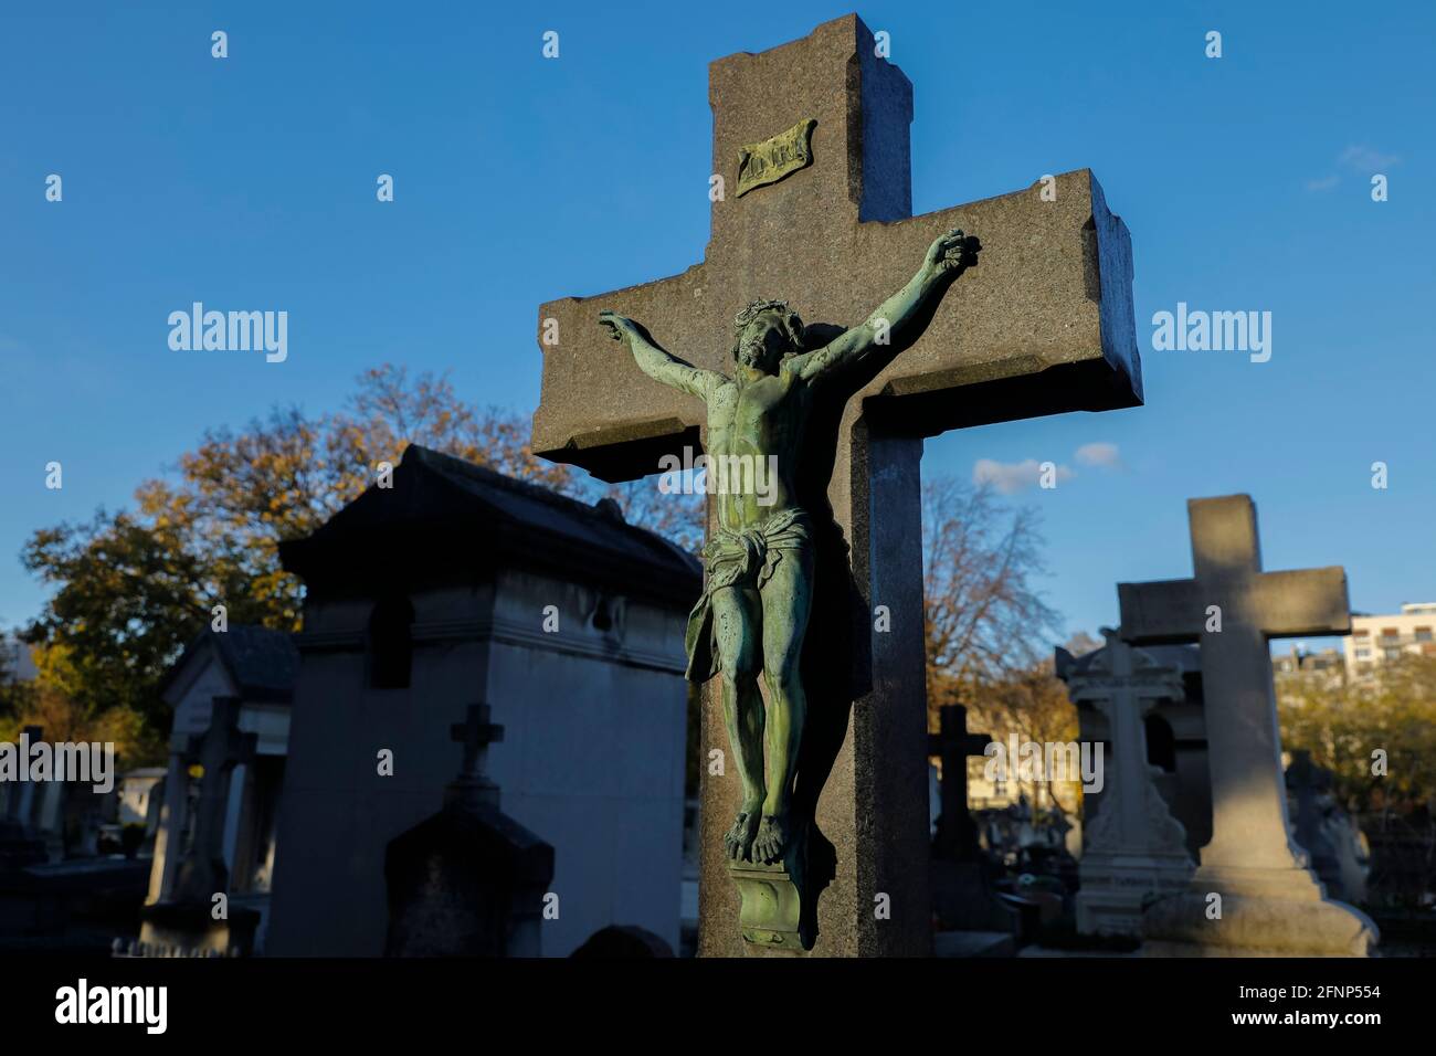
[[[796,356],[784,366],[811,381],[862,362],[876,348],[882,348],[886,356],[898,355],[928,329],[942,295],[976,263],[979,249],[976,238],[969,238],[956,227],[938,236],[918,273],[867,319],[843,330],[827,346]]]

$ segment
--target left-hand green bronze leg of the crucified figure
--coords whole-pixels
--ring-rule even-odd
[[[724,835],[728,856],[748,858],[763,806],[763,697],[758,694],[758,592],[729,586],[714,593],[714,636],[722,675],[722,717],[742,782],[742,805]]]

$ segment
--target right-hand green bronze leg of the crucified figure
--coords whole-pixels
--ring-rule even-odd
[[[778,862],[793,838],[788,800],[803,740],[807,698],[800,661],[813,605],[813,557],[807,550],[783,555],[763,586],[763,677],[768,687],[768,795],[752,861]]]

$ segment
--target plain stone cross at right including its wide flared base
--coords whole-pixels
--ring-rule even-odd
[[[1212,767],[1212,842],[1188,891],[1144,914],[1144,950],[1364,957],[1376,925],[1325,898],[1292,839],[1268,645],[1348,634],[1346,572],[1264,572],[1249,496],[1192,499],[1188,516],[1192,579],[1117,585],[1123,641],[1200,642]]]

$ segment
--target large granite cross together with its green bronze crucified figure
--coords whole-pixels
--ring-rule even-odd
[[[856,16],[714,63],[709,99],[704,261],[540,307],[533,448],[773,471],[773,504],[709,503],[689,674],[732,766],[704,779],[699,953],[925,954],[922,438],[1140,404],[1130,240],[1087,171],[912,217],[912,85]]]

